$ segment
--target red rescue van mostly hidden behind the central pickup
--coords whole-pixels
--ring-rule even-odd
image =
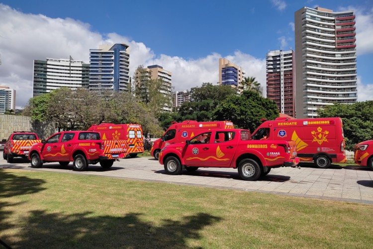
[[[230,121],[197,122],[187,120],[181,123],[174,123],[166,130],[163,136],[154,141],[151,148],[151,155],[158,160],[159,153],[164,146],[174,143],[185,142],[195,134],[209,129],[234,128]]]

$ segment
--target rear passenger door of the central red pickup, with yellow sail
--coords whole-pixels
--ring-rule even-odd
[[[234,139],[236,132],[216,131],[214,133],[214,137],[210,144],[210,164],[211,166],[218,165],[219,167],[229,167],[237,149],[237,142],[235,142]]]

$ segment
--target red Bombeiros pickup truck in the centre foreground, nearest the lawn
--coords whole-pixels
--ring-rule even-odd
[[[238,168],[244,180],[255,181],[271,168],[295,167],[296,144],[283,140],[251,140],[249,130],[214,129],[197,134],[185,143],[165,146],[159,162],[171,175],[198,167]]]

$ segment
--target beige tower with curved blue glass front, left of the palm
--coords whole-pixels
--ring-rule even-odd
[[[219,84],[238,87],[244,78],[242,67],[231,63],[229,60],[219,59]]]

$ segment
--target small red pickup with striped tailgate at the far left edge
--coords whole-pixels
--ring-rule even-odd
[[[14,131],[8,137],[2,151],[2,158],[7,162],[13,162],[14,157],[27,158],[29,149],[36,143],[39,143],[39,137],[32,132]]]

